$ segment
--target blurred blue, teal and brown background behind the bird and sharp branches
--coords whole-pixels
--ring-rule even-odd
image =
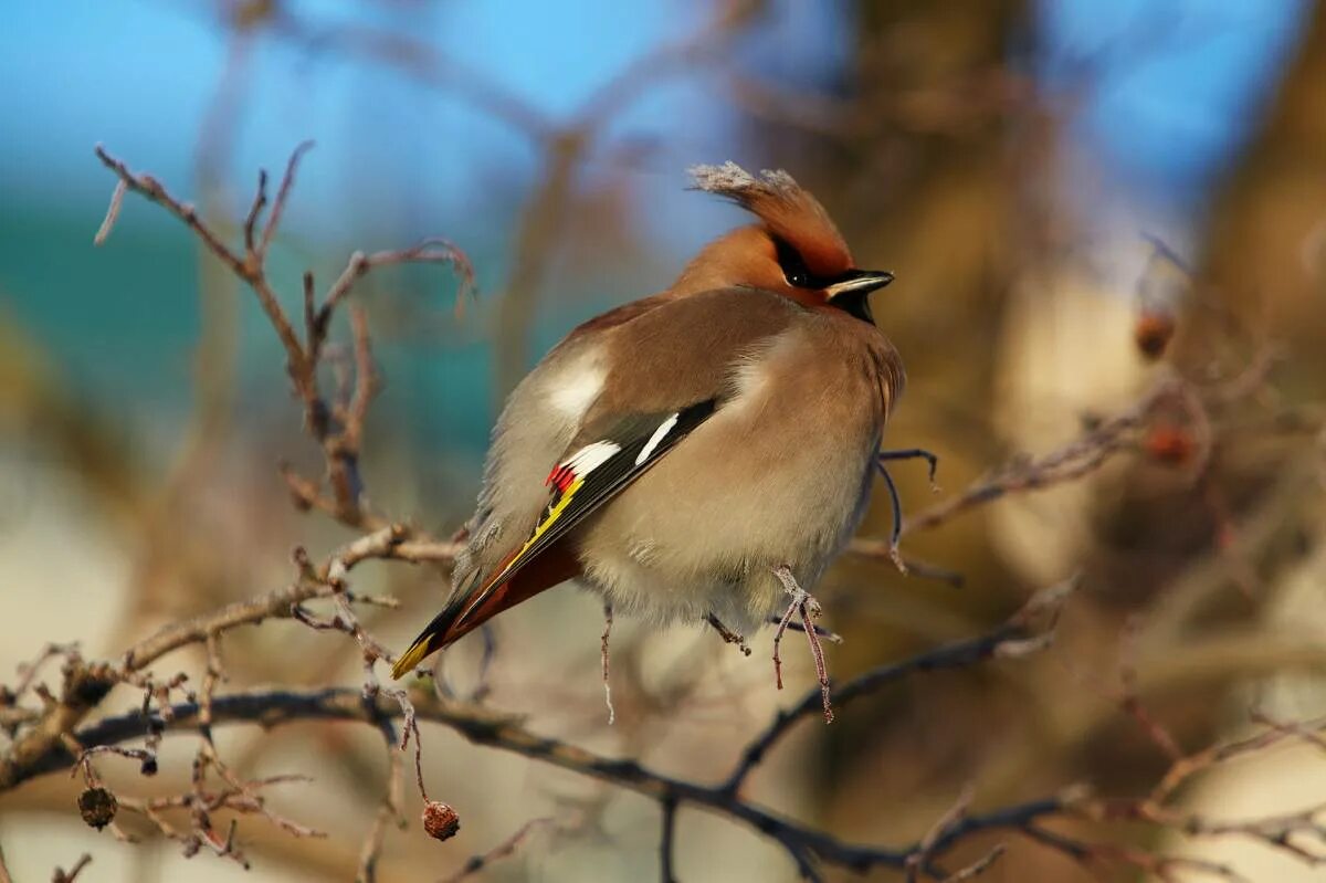
[[[366,431],[369,493],[442,536],[471,512],[488,430],[522,373],[745,223],[686,191],[697,162],[786,168],[861,265],[898,274],[874,304],[910,375],[887,443],[939,453],[943,485],[936,497],[923,465],[896,465],[908,512],[1071,442],[1167,374],[1211,390],[1201,419],[1144,427],[1081,480],[907,537],[907,554],[963,587],[845,558],[817,593],[846,638],[830,648],[835,676],[979,634],[1073,573],[1085,587],[1048,654],[802,725],[753,780],[760,801],[841,838],[903,843],[965,782],[977,807],[1078,781],[1144,792],[1172,758],[1120,711],[1126,688],[1184,752],[1236,736],[1252,707],[1326,708],[1326,5],[20,0],[4,19],[4,679],[46,640],[114,659],[163,622],[285,583],[294,545],[325,554],[350,536],[289,505],[277,464],[316,475],[318,452],[252,294],[133,196],[109,241],[91,243],[114,184],[95,143],[237,235],[257,170],[278,172],[313,139],[273,249],[289,305],[305,268],[329,280],[354,249],[428,235],[477,270],[463,316],[442,268],[358,289],[387,384]],[[880,493],[862,533],[888,530]],[[444,585],[399,565],[357,579],[404,602],[371,618],[395,647]],[[503,617],[489,701],[709,781],[813,683],[798,652],[793,692],[773,689],[768,634],[741,659],[709,634],[619,620],[607,727],[601,628],[572,587]],[[469,644],[448,660],[457,684],[473,680]],[[335,635],[272,623],[227,647],[236,687],[333,670],[358,683],[358,652]],[[392,831],[383,879],[446,876],[533,818],[553,822],[488,879],[656,875],[648,801],[440,728],[424,740],[430,789],[464,829],[443,845]],[[296,841],[245,822],[247,879],[350,879],[383,788],[377,736],[236,729],[223,748],[249,770],[314,776],[286,786],[281,809],[332,833]],[[162,781],[117,781],[168,790],[187,782],[190,752],[167,752]],[[1248,817],[1319,803],[1323,788],[1326,762],[1293,749],[1217,770],[1184,801]],[[72,810],[77,790],[52,776],[0,795],[17,879],[49,879],[85,850],[88,880],[244,874],[98,837]],[[1130,835],[1254,880],[1326,879],[1248,841]],[[680,879],[796,878],[774,845],[725,821],[684,811],[678,837]],[[1016,838],[972,856],[996,839],[1014,849],[991,880],[1093,879]]]

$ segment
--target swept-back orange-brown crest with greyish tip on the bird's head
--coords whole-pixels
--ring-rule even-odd
[[[837,276],[851,265],[851,252],[829,212],[788,172],[764,170],[758,176],[731,159],[721,166],[692,166],[695,190],[717,194],[756,215],[822,276]]]

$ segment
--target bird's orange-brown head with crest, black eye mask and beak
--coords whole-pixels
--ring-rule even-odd
[[[731,199],[760,219],[704,247],[672,290],[749,286],[808,306],[833,306],[874,321],[869,294],[894,281],[858,269],[823,206],[785,171],[754,176],[733,162],[691,168],[695,188]]]

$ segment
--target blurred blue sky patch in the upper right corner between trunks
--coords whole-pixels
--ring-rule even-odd
[[[1049,0],[1041,70],[1067,89],[1093,65],[1074,137],[1138,198],[1199,203],[1256,131],[1305,11],[1305,0]]]

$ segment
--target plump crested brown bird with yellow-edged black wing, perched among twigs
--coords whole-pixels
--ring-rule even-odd
[[[786,171],[690,172],[753,223],[577,326],[512,391],[450,599],[394,677],[572,579],[606,609],[740,638],[850,541],[906,383],[869,300],[894,274],[859,269]]]

